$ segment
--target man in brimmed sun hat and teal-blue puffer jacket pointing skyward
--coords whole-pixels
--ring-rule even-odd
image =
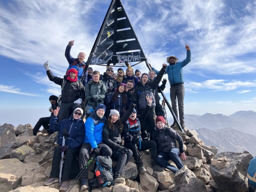
[[[179,120],[180,125],[184,129],[184,96],[185,96],[185,89],[184,89],[184,77],[183,77],[183,67],[185,67],[190,61],[191,61],[191,52],[190,48],[187,44],[185,44],[185,48],[187,50],[187,57],[185,60],[181,62],[177,62],[178,58],[174,55],[167,57],[166,60],[169,63],[169,66],[167,66],[165,74],[168,74],[168,80],[170,83],[170,98],[172,102],[172,109],[178,118],[178,109],[177,109],[177,100],[178,100],[178,108],[179,108]],[[149,64],[150,65],[150,64]],[[159,73],[154,67],[152,67],[152,70],[156,72],[156,74]],[[177,98],[177,99],[176,99]],[[176,123],[175,121],[171,125],[171,127],[175,127]]]

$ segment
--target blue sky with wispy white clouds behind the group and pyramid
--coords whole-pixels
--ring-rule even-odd
[[[71,55],[82,51],[87,58],[110,2],[1,1],[0,124],[34,126],[40,117],[49,116],[48,98],[58,95],[60,86],[48,80],[42,65],[49,60],[55,76],[62,77],[69,40],[75,40]],[[255,111],[256,1],[122,3],[155,68],[170,55],[185,59],[185,43],[190,46],[191,62],[183,68],[185,114]],[[148,71],[144,64],[138,68]]]

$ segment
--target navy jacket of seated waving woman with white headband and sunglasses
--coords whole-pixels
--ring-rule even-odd
[[[59,131],[60,139],[58,140],[58,144],[62,145],[63,140],[63,130],[66,128],[69,132],[68,138],[65,140],[65,145],[68,146],[69,149],[78,147],[84,139],[84,123],[82,119],[63,119],[58,121],[58,117],[52,116],[50,119],[50,130],[51,131]]]

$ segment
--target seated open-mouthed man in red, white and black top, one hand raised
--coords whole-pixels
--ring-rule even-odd
[[[161,168],[156,163],[156,142],[149,140],[142,141],[141,138],[140,122],[145,120],[148,111],[150,110],[152,99],[152,97],[150,98],[148,95],[146,95],[147,106],[142,114],[137,116],[136,110],[134,109],[129,119],[126,121],[126,123],[123,124],[124,146],[132,151],[132,156],[134,157],[136,165],[139,167],[141,173],[144,173],[146,169],[143,166],[139,151],[144,151],[148,149],[150,149],[151,153],[151,165],[153,170],[163,170],[163,168]]]

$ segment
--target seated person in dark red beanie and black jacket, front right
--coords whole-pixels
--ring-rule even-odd
[[[176,140],[179,143],[179,149],[177,148]],[[168,128],[165,125],[163,116],[158,116],[156,118],[156,129],[153,132],[153,141],[157,144],[158,154],[156,162],[159,165],[171,170],[173,173],[176,173],[179,169],[184,167],[179,158],[180,154],[182,160],[186,160],[183,139],[177,131],[172,128]],[[170,159],[175,163],[178,169],[168,162]]]

